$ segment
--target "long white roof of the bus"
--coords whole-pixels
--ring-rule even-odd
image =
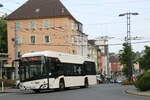
[[[66,54],[61,52],[54,52],[54,51],[39,51],[39,52],[32,52],[26,53],[22,57],[35,57],[35,56],[47,56],[47,57],[55,57],[63,63],[76,63],[76,64],[83,64],[84,61],[94,62],[87,57],[79,56],[79,55],[72,55]]]

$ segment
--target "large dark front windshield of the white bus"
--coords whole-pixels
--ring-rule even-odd
[[[43,57],[22,58],[19,66],[21,81],[30,81],[43,78],[47,75]]]

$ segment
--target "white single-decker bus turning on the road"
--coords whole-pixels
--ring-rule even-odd
[[[94,61],[52,51],[24,54],[19,60],[19,76],[20,89],[35,92],[96,84]]]

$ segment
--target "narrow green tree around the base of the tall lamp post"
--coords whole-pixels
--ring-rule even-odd
[[[131,80],[133,71],[133,62],[135,62],[135,53],[132,51],[131,46],[128,43],[123,44],[123,50],[120,50],[119,61],[123,65],[122,72]]]

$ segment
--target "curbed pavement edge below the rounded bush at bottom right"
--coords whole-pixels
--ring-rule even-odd
[[[150,91],[139,91],[138,89],[128,89],[126,93],[139,96],[150,96]]]

